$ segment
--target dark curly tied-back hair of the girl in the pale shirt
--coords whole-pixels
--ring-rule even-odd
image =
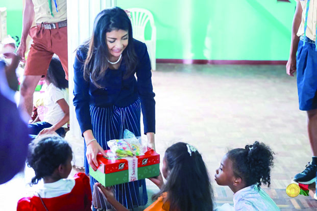
[[[246,145],[245,149],[238,148],[227,153],[232,161],[235,177],[240,177],[248,186],[261,183],[271,184],[271,167],[273,167],[274,152],[264,143],[254,142],[253,145]]]

